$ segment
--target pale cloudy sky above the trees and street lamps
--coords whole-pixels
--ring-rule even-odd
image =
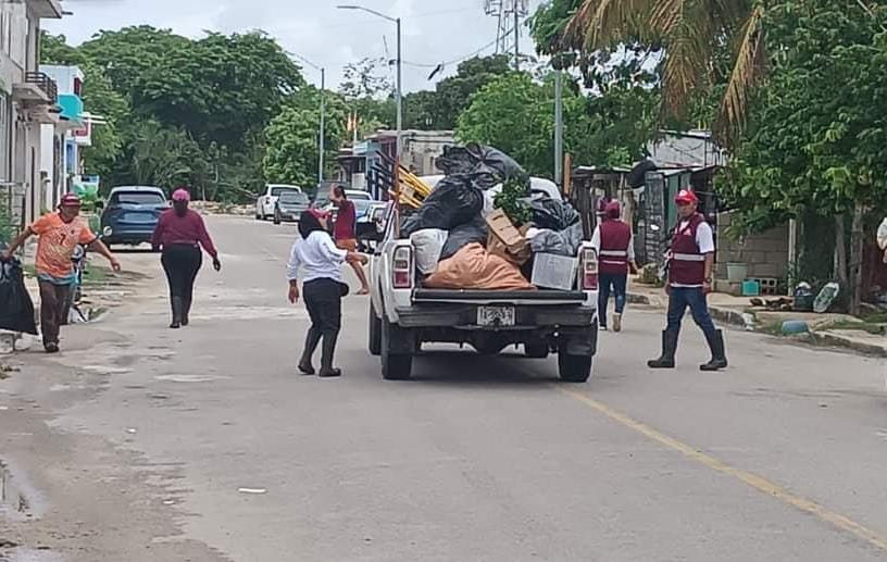
[[[533,11],[544,0],[528,0]],[[338,10],[341,3],[360,3],[392,17],[403,26],[403,87],[405,91],[433,89],[433,67],[464,59],[478,51],[492,54],[497,22],[484,13],[485,0],[63,0],[73,12],[61,21],[43,21],[45,28],[64,34],[78,45],[100,29],[129,25],[171,28],[199,38],[204,30],[221,33],[263,29],[290,53],[326,67],[327,87],[341,82],[341,70],[365,57],[393,59],[395,24],[365,12]],[[526,28],[521,51],[533,53]],[[305,78],[320,84],[320,72],[304,66]],[[435,77],[452,75],[448,64]],[[390,77],[393,82],[393,67]]]

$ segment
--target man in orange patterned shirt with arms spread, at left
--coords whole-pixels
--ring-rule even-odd
[[[37,280],[40,285],[40,330],[48,353],[59,351],[59,327],[63,323],[65,303],[76,282],[71,258],[78,245],[104,255],[111,267],[118,272],[120,262],[89,226],[79,217],[80,199],[73,193],[62,198],[59,211],[41,216],[12,241],[0,258],[9,261],[12,254],[32,236],[37,242]]]

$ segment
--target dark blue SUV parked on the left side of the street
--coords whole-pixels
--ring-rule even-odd
[[[102,240],[108,246],[150,242],[160,214],[168,208],[166,193],[159,187],[115,187],[101,215]]]

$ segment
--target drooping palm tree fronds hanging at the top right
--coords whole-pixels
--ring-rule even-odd
[[[714,122],[715,136],[730,146],[749,111],[754,85],[765,70],[760,0],[580,0],[564,39],[586,51],[640,40],[664,48],[663,115],[679,116],[698,88],[713,86],[714,59],[734,58]]]

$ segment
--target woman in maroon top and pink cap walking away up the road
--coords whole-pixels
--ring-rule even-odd
[[[178,329],[187,326],[193,300],[193,284],[203,264],[200,247],[213,259],[213,268],[222,270],[218,252],[207,232],[203,218],[188,209],[191,196],[184,188],[173,193],[173,208],[165,211],[158,221],[151,246],[162,250],[161,263],[170,284],[170,301],[173,322],[170,327]]]

